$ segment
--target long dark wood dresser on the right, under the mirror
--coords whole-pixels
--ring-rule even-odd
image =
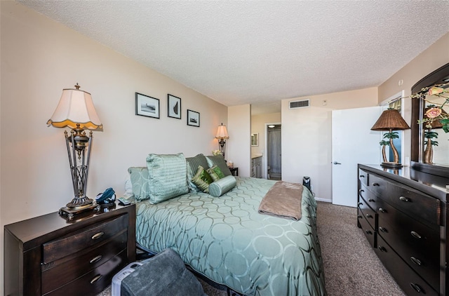
[[[449,295],[449,179],[358,165],[358,227],[407,295]]]

